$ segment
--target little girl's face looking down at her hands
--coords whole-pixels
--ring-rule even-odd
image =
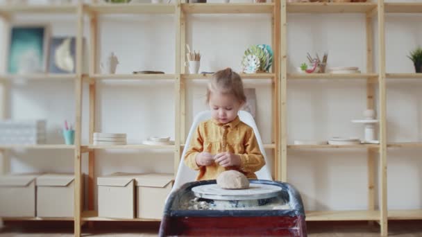
[[[219,123],[230,123],[236,119],[237,112],[243,103],[237,100],[233,94],[211,92],[209,105],[212,119]]]

